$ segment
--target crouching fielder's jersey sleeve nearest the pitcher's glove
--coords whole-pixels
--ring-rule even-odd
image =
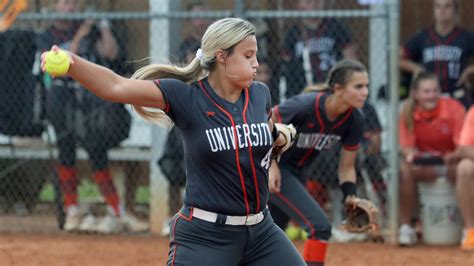
[[[277,118],[277,122],[293,124],[295,126],[303,123],[305,120],[305,112],[308,110],[314,110],[314,107],[308,109],[312,107],[308,104],[308,98],[313,98],[312,102],[314,102],[314,97],[311,97],[310,95],[314,94],[298,94],[273,107],[273,113]]]

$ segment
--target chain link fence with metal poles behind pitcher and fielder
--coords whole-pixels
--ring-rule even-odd
[[[274,104],[324,82],[342,58],[368,67],[358,182],[361,195],[381,208],[387,227],[387,199],[396,199],[387,194],[396,173],[389,153],[396,150],[393,116],[387,114],[397,110],[388,99],[389,51],[398,44],[389,36],[392,1],[374,2],[383,3],[117,0],[79,1],[77,10],[55,1],[30,3],[0,33],[0,232],[53,232],[58,223],[66,229],[72,214],[80,214],[87,229],[90,214],[125,211],[129,231],[147,231],[150,223],[153,232],[166,234],[166,219],[180,207],[186,181],[180,133],[168,134],[69,79],[43,74],[39,54],[58,44],[130,76],[150,62],[185,64],[207,25],[231,15],[257,27],[257,79],[269,85]],[[342,219],[337,162],[337,152],[322,152],[305,173],[305,185],[335,224]]]

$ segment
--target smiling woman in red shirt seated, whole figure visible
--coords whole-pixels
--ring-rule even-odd
[[[417,165],[413,159],[420,153],[444,155],[454,151],[459,143],[464,114],[460,102],[441,97],[435,74],[422,72],[415,77],[399,121],[403,157],[400,166],[400,245],[416,243],[410,220],[417,202],[417,182],[433,181],[443,175],[455,179],[456,165],[453,163]]]

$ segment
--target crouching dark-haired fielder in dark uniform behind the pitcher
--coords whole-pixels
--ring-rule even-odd
[[[310,87],[307,93],[295,95],[273,108],[272,120],[293,124],[299,136],[279,162],[272,162],[269,206],[280,228],[284,229],[291,217],[307,232],[303,258],[308,265],[324,264],[331,224],[306,190],[303,172],[321,150],[336,149],[336,144],[341,143],[336,176],[342,200],[356,195],[356,156],[363,134],[363,118],[356,108],[363,107],[368,84],[363,64],[342,60],[331,68],[322,88]]]

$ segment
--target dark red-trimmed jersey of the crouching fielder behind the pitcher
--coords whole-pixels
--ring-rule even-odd
[[[346,150],[357,150],[362,139],[363,118],[351,108],[334,121],[327,118],[324,103],[330,93],[310,92],[295,95],[274,107],[279,122],[293,124],[298,139],[281,157],[280,164],[293,169],[308,165],[322,150],[341,143]]]

